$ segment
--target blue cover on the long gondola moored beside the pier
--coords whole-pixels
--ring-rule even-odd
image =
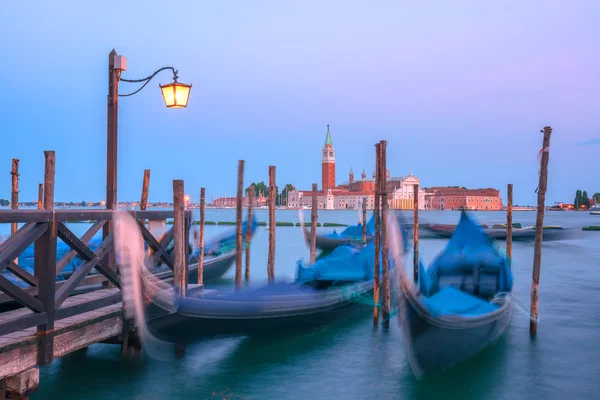
[[[360,248],[338,246],[331,254],[315,261],[313,265],[307,266],[298,261],[296,281],[361,282],[373,279],[374,252],[373,244]]]

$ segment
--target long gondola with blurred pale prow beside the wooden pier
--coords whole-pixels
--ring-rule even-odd
[[[133,246],[131,241],[117,243],[126,250],[127,246]],[[132,313],[131,304],[137,304],[136,321],[138,326],[144,324],[142,334],[146,332],[147,337],[174,343],[210,336],[309,329],[344,318],[355,308],[372,307],[368,299],[373,291],[373,263],[372,244],[342,245],[313,265],[298,261],[293,282],[273,283],[233,294],[183,297],[156,279],[142,263],[126,262],[123,271],[131,275],[127,275],[130,278],[125,280],[124,291],[137,293],[126,309]],[[128,286],[127,282],[142,282],[141,290],[136,290],[135,284]],[[147,307],[142,306],[148,303]],[[157,308],[163,311],[160,318],[149,319],[146,324],[144,315],[158,314]]]

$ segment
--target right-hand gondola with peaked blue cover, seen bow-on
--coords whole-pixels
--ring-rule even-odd
[[[398,268],[401,270],[401,268]],[[512,274],[505,255],[467,214],[418,285],[402,272],[398,301],[404,347],[421,378],[467,360],[494,343],[512,315]]]

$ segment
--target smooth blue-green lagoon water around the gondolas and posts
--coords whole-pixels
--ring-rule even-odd
[[[235,210],[209,209],[206,219],[234,221]],[[407,214],[410,215],[410,214]],[[266,210],[257,210],[267,220]],[[320,221],[354,224],[356,211],[321,211]],[[505,214],[475,213],[486,224]],[[421,213],[422,222],[456,223],[457,212]],[[278,211],[278,221],[297,222],[296,211]],[[309,212],[305,212],[309,220]],[[533,225],[534,212],[515,212],[514,222]],[[397,318],[389,330],[373,329],[370,313],[277,340],[228,338],[189,346],[171,362],[144,355],[123,358],[119,346],[94,345],[41,368],[32,399],[587,399],[600,392],[600,232],[588,213],[548,212],[546,225],[577,228],[576,237],[544,243],[540,323],[535,340],[529,321],[514,313],[493,347],[456,368],[417,381],[403,351]],[[75,224],[77,233],[88,225]],[[232,227],[207,226],[213,235]],[[4,227],[0,227],[4,233]],[[340,228],[343,229],[343,228]],[[322,228],[322,231],[331,229]],[[296,260],[308,257],[300,228],[276,231],[276,276],[293,279]],[[444,240],[422,239],[429,263]],[[259,227],[252,245],[252,283],[267,278],[268,231]],[[533,243],[513,244],[514,291],[529,304]],[[233,284],[233,269],[223,285]]]

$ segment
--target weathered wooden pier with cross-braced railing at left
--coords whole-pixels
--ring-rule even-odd
[[[183,226],[177,225],[189,226],[191,212],[184,211],[183,221],[175,218],[174,210],[130,213],[148,245],[145,265],[152,269],[162,260],[169,269],[157,276],[171,280],[175,262],[166,251],[167,246],[177,229],[183,231]],[[153,236],[142,222],[167,218],[174,218],[178,224],[160,238]],[[67,227],[69,222],[90,222],[92,226],[79,238]],[[113,252],[113,233],[95,251],[88,247],[90,239],[108,222],[112,223],[111,210],[0,210],[0,223],[22,225],[0,244],[0,272],[7,269],[25,284],[16,285],[0,275],[0,304],[5,309],[12,308],[0,312],[0,399],[27,398],[34,393],[39,384],[39,366],[56,358],[98,342],[126,348],[128,342],[135,340],[129,335],[132,322],[123,319],[119,272],[107,262]],[[60,260],[56,260],[58,239],[71,248]],[[31,245],[33,275],[15,263]],[[56,277],[75,256],[83,260],[82,264],[68,279],[57,281]],[[187,259],[183,257],[181,269],[189,271]],[[201,288],[190,286],[192,291]],[[123,337],[128,339],[124,342]]]

